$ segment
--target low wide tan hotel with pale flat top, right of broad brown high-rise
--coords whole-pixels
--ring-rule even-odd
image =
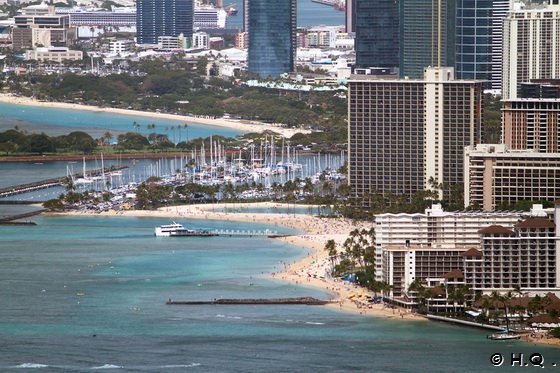
[[[510,150],[504,144],[465,148],[465,206],[492,211],[519,201],[560,199],[560,153]]]

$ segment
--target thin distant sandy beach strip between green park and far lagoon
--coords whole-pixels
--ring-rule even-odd
[[[29,98],[25,96],[13,96],[7,93],[0,93],[0,102],[11,104],[11,105],[47,107],[47,108],[54,108],[54,109],[84,110],[84,111],[93,111],[93,112],[114,113],[120,115],[141,116],[147,118],[170,119],[170,120],[188,122],[193,124],[204,124],[208,126],[240,130],[247,133],[249,132],[262,133],[264,131],[273,131],[285,138],[292,137],[296,133],[308,134],[312,132],[305,129],[277,127],[277,126],[268,125],[266,123],[254,122],[254,121],[242,121],[242,120],[238,121],[238,120],[231,120],[231,119],[224,119],[224,118],[216,118],[216,119],[202,118],[202,117],[193,117],[193,116],[179,115],[179,114],[154,113],[150,111],[141,111],[141,110],[129,110],[129,109],[119,109],[119,108],[111,108],[111,107],[71,104],[66,102],[39,101],[33,98]]]

